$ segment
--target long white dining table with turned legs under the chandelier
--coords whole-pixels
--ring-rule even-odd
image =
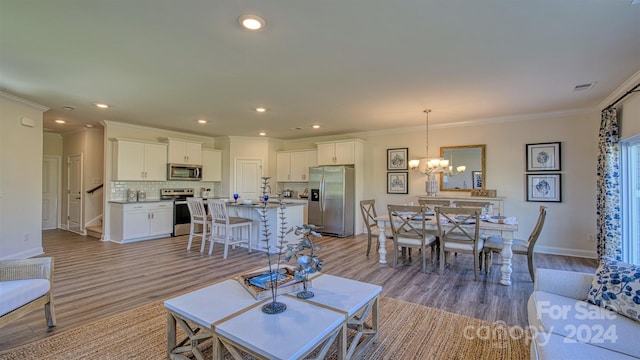
[[[387,227],[390,226],[390,223],[389,223],[390,220],[389,220],[388,214],[379,215],[375,217],[375,220],[378,224],[378,229],[386,229]],[[425,225],[428,230],[433,230],[433,231],[438,230],[438,224],[436,222],[435,216],[428,216],[427,219],[425,219],[425,222],[426,222]],[[450,226],[448,224],[442,224],[442,225],[445,228],[447,226]],[[470,224],[468,226],[473,227],[475,225]],[[502,285],[510,286],[511,273],[513,272],[513,269],[511,267],[511,259],[513,258],[511,245],[513,244],[513,235],[516,231],[518,231],[518,224],[512,223],[512,222],[506,224],[501,222],[491,222],[487,220],[481,220],[480,231],[481,231],[481,234],[487,237],[499,236],[500,238],[502,238],[503,246],[502,246],[502,251],[500,251],[500,255],[502,258],[502,266],[500,266],[500,272],[501,272],[500,283]],[[387,249],[386,249],[387,236],[385,235],[385,231],[379,231],[378,241],[380,242],[380,247],[378,249],[378,255],[379,255],[378,262],[380,264],[386,264],[387,263]]]

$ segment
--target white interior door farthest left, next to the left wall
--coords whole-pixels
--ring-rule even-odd
[[[42,161],[42,229],[58,227],[60,158],[45,156]]]

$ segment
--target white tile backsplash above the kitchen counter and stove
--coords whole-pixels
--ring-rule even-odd
[[[160,198],[160,189],[192,188],[195,196],[200,196],[201,188],[210,189],[210,193],[218,196],[219,183],[213,181],[112,181],[112,201],[124,201],[127,199],[127,190],[145,191],[147,200]]]

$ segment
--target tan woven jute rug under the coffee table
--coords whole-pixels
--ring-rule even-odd
[[[527,359],[529,344],[518,327],[383,297],[378,339],[362,358]],[[166,359],[166,351],[166,310],[157,302],[4,351],[0,359]]]

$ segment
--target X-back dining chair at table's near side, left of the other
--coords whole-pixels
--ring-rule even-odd
[[[426,273],[427,246],[431,247],[431,261],[433,262],[437,245],[436,237],[427,231],[426,208],[415,205],[387,205],[387,210],[394,239],[393,267],[398,265],[398,248],[418,248],[422,256],[422,272]]]

